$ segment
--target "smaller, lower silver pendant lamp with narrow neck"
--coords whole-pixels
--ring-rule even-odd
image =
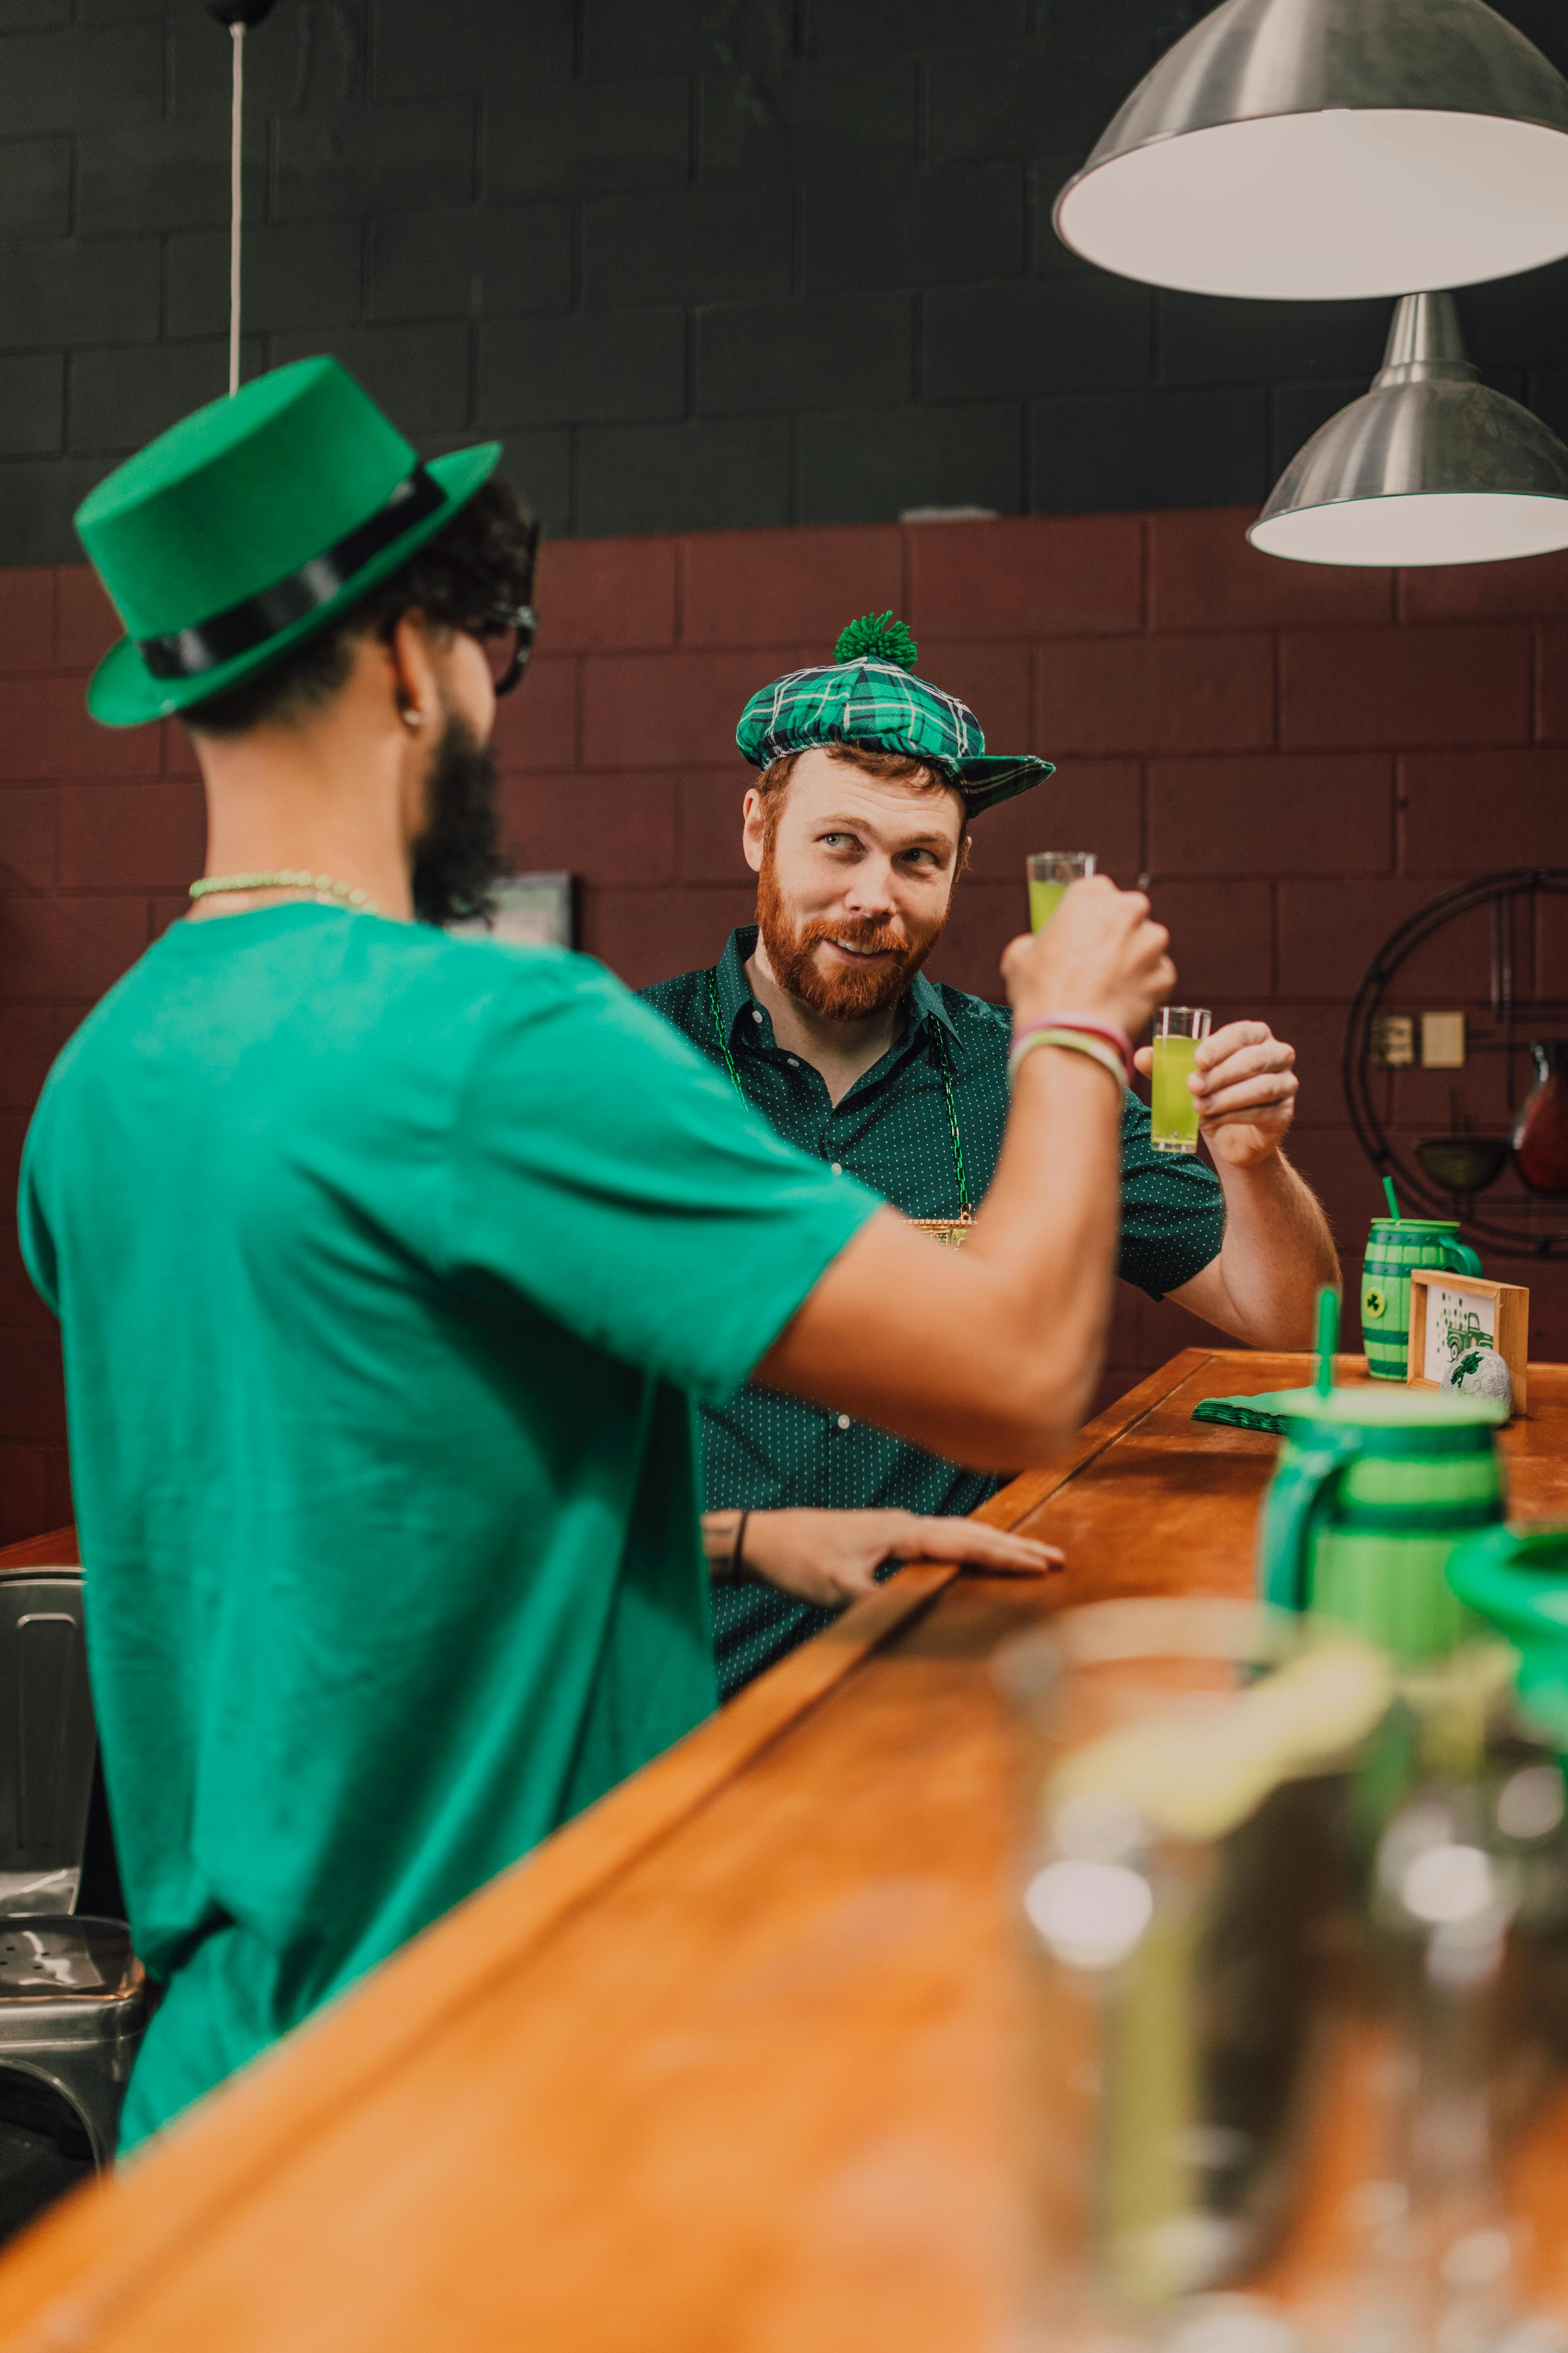
[[[1481,384],[1453,294],[1406,294],[1382,369],[1246,534],[1307,565],[1483,565],[1568,546],[1568,449]]]

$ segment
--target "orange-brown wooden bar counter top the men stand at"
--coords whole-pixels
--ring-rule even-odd
[[[987,1659],[1072,1602],[1251,1591],[1274,1440],[1192,1407],[1305,1377],[1173,1358],[985,1508],[1063,1574],[914,1565],[856,1605],[45,2219],[0,2259],[0,2353],[992,2348],[1013,2207]],[[1505,1452],[1514,1508],[1568,1518],[1568,1367],[1530,1367]],[[1528,2285],[1568,2308],[1568,2106],[1514,2172]],[[1274,2285],[1309,2259],[1307,2228]]]

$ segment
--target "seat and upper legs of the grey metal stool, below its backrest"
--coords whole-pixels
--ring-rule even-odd
[[[63,2099],[99,2169],[115,2153],[146,2007],[125,1920],[0,1920],[0,2073]]]

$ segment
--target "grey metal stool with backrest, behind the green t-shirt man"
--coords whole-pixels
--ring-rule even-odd
[[[103,2167],[148,1984],[122,1920],[75,1918],[96,1753],[82,1572],[0,1577],[0,2075],[45,2129],[63,2101]]]

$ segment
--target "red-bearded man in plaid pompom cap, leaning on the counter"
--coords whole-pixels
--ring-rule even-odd
[[[762,769],[743,812],[757,925],[644,998],[802,1151],[961,1231],[1001,1146],[1009,1016],[933,986],[922,965],[971,821],[1051,762],[990,755],[976,715],[914,675],[914,659],[900,621],[867,614],[830,664],[750,699],[738,746]],[[1213,1167],[1152,1151],[1147,1111],[1124,1096],[1121,1278],[1255,1346],[1300,1348],[1338,1264],[1281,1153],[1295,1056],[1262,1021],[1227,1024],[1199,1056]],[[710,1553],[738,1551],[766,1579],[715,1591],[722,1694],[827,1624],[790,1591],[806,1560],[842,1602],[896,1558],[994,1558],[992,1532],[954,1515],[999,1480],[952,1447],[748,1384],[705,1407],[703,1454]]]

